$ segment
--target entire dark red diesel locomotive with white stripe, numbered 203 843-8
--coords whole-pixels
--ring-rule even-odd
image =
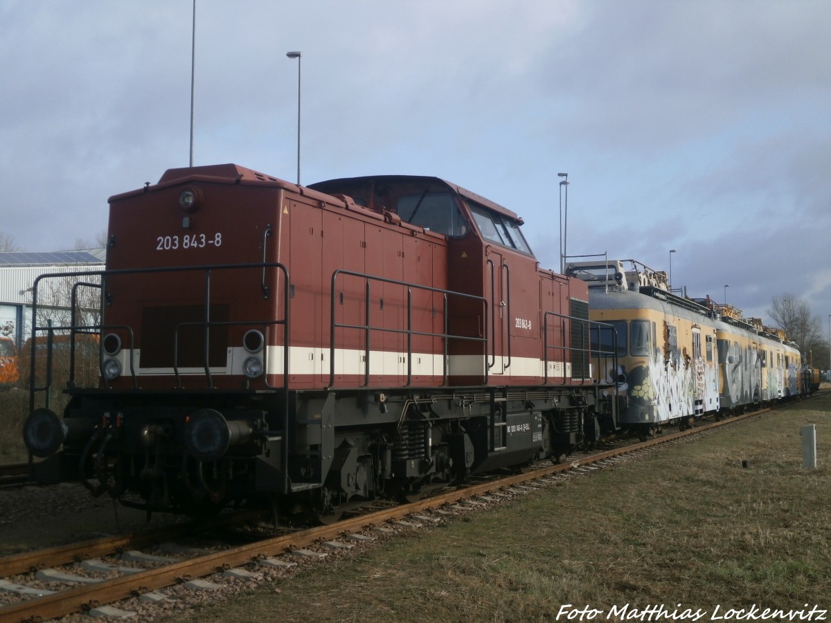
[[[100,336],[101,380],[71,378],[62,418],[32,385],[39,478],[148,512],[264,499],[328,517],[617,428],[587,284],[540,269],[522,220],[455,184],[221,164],[110,206],[106,271],[76,273],[101,321],[62,327]]]

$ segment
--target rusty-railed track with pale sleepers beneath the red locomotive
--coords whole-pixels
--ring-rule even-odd
[[[149,556],[137,551],[192,534],[197,527],[190,523],[176,526],[175,532],[171,532],[169,527],[157,528],[134,535],[106,537],[5,557],[0,559],[0,576],[6,578],[0,581],[0,591],[6,595],[11,593],[13,597],[5,601],[13,602],[0,607],[0,621],[43,621],[75,612],[93,611],[101,605],[130,596],[164,599],[154,591],[217,573],[234,577],[263,575],[263,570],[268,567],[289,567],[294,556],[322,557],[319,552],[307,549],[309,547],[322,545],[346,549],[351,547],[350,541],[372,540],[373,537],[366,536],[366,532],[373,529],[389,531],[406,529],[416,522],[440,522],[449,509],[462,510],[464,507],[461,505],[464,504],[472,507],[507,495],[513,497],[527,493],[533,488],[549,486],[558,479],[568,478],[569,472],[578,473],[613,464],[622,455],[642,453],[659,444],[702,434],[767,411],[769,409],[699,424],[694,429],[662,434],[640,443],[606,444],[606,447],[592,454],[563,464],[538,464],[524,473],[505,478],[473,483],[464,488],[445,488],[430,498],[414,503],[371,505],[363,509],[363,514],[332,525],[286,532],[237,547],[224,547],[219,551],[205,552],[181,547],[177,553],[163,556],[158,556],[158,553]],[[111,562],[103,562],[101,559],[104,557]],[[61,583],[63,586],[59,590],[54,588]],[[106,610],[103,612],[106,613]]]

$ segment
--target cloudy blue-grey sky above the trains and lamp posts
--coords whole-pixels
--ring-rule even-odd
[[[189,164],[193,7],[0,0],[19,250],[92,245],[111,195]],[[557,269],[568,173],[568,255],[671,267],[769,325],[787,292],[831,323],[827,0],[196,0],[195,32],[196,165],[296,181],[301,51],[303,184],[447,179]]]

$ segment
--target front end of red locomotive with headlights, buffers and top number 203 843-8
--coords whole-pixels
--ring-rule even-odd
[[[47,458],[41,473],[186,512],[248,498],[258,463],[286,487],[277,254],[292,188],[229,164],[172,169],[110,199],[100,380],[70,380],[62,419],[48,390],[32,392],[24,439]]]

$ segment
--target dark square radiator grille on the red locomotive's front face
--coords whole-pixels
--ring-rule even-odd
[[[179,368],[204,366],[204,305],[177,307],[145,307],[141,314],[142,368],[172,368],[175,347]],[[227,322],[229,306],[210,306],[208,365],[224,367],[228,352],[228,326],[215,326],[215,322]],[[190,323],[199,323],[198,325]],[[179,331],[176,331],[179,327]],[[178,342],[178,344],[177,344]]]

